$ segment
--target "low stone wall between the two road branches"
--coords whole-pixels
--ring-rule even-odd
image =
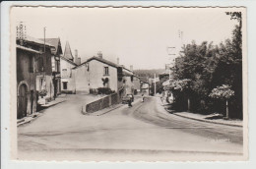
[[[109,107],[113,104],[119,103],[120,99],[118,98],[117,93],[113,93],[111,95],[104,96],[96,101],[93,101],[91,103],[88,103],[86,105],[82,106],[82,113],[94,113],[98,110],[104,109],[106,107]]]

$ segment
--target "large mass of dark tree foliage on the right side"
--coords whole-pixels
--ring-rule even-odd
[[[232,38],[219,45],[208,41],[184,45],[172,68],[174,82],[167,88],[173,91],[175,104],[180,107],[190,98],[191,109],[195,112],[220,111],[221,103],[213,98],[233,95],[230,116],[242,118],[242,16],[240,12],[227,12],[226,15],[238,21]],[[184,80],[190,80],[189,84]],[[189,87],[184,87],[186,85]]]

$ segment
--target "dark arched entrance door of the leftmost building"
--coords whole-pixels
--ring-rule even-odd
[[[28,98],[27,98],[26,91],[27,91],[26,84],[22,84],[19,88],[19,106],[18,106],[18,114],[17,114],[18,119],[21,119],[27,116]]]

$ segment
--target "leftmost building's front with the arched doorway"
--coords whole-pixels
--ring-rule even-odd
[[[17,118],[36,111],[35,60],[40,52],[17,45]]]

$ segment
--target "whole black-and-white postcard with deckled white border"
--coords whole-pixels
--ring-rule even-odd
[[[12,6],[11,155],[248,159],[245,7]]]

